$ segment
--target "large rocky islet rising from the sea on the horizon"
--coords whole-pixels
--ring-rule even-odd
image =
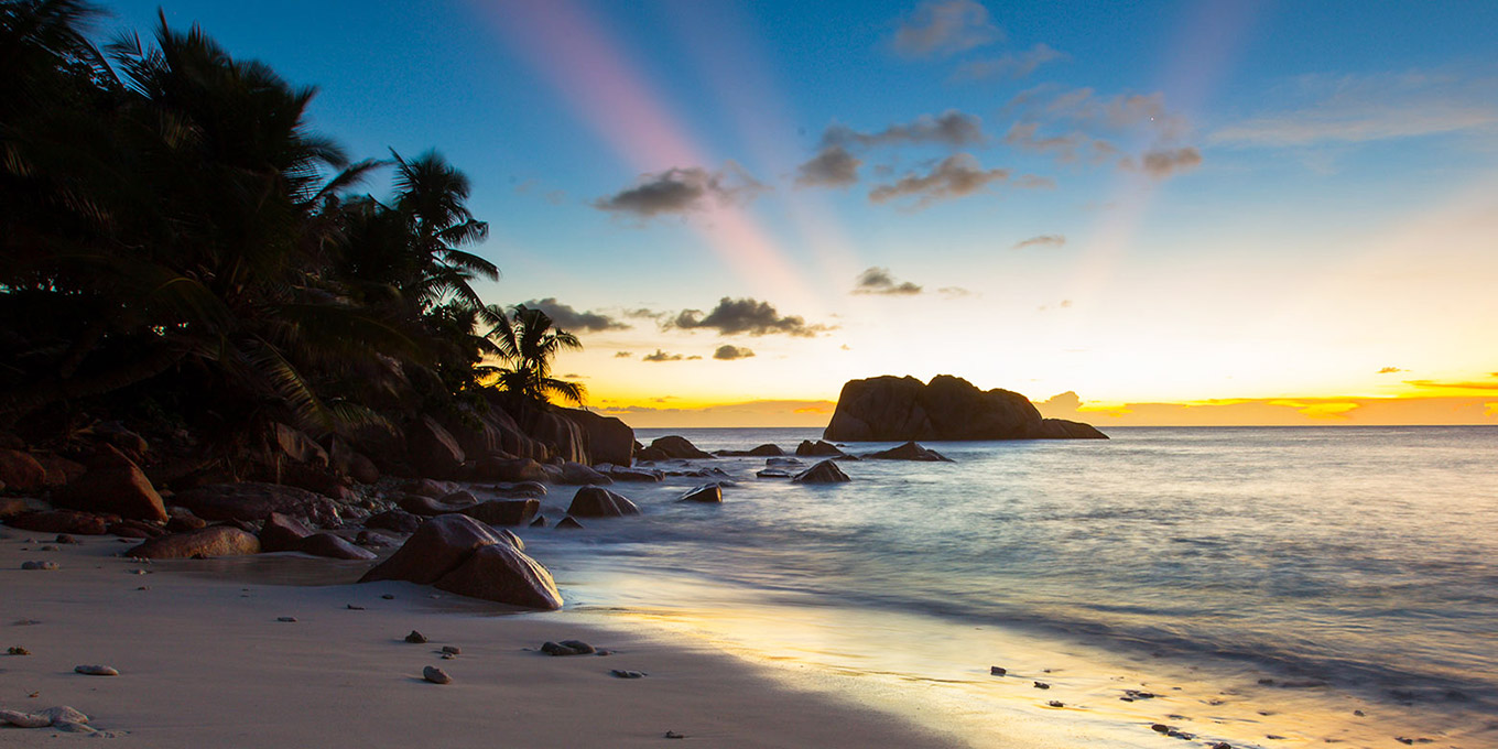
[[[1107,439],[1086,424],[1041,418],[1019,392],[981,391],[950,374],[930,383],[891,376],[849,380],[822,436],[845,442]]]

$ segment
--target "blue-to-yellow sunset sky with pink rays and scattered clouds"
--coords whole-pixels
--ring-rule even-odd
[[[1498,3],[163,12],[316,85],[351,154],[461,168],[479,292],[637,427],[939,373],[1103,427],[1498,424]]]

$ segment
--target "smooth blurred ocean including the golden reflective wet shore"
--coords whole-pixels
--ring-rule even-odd
[[[839,461],[833,485],[662,463],[721,469],[724,503],[620,482],[641,517],[521,535],[574,611],[867,685],[977,746],[1016,721],[1071,727],[1058,746],[1498,746],[1498,428],[1106,431],[930,442],[953,463]],[[819,430],[637,431],[664,434]]]

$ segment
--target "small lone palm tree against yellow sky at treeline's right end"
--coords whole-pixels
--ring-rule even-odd
[[[563,349],[583,351],[583,345],[577,336],[551,325],[551,316],[545,312],[517,304],[509,310],[509,319],[490,331],[488,339],[494,342],[494,348],[506,363],[496,370],[499,386],[506,392],[542,403],[556,395],[581,406],[587,388],[580,382],[553,377],[551,360]]]

